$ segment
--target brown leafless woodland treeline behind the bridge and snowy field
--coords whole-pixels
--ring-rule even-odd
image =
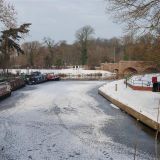
[[[90,39],[87,41],[86,65],[90,68],[104,62],[120,60],[143,60],[160,63],[160,38],[145,35],[138,39],[133,36],[112,39]],[[55,43],[46,38],[22,44],[24,54],[12,54],[7,62],[10,68],[51,68],[69,65],[82,65],[82,51],[79,42],[67,44],[66,41]],[[1,62],[1,61],[0,61]],[[3,62],[0,65],[3,66]]]

